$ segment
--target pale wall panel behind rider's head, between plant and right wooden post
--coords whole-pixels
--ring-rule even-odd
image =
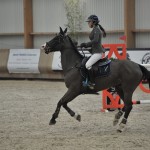
[[[106,30],[124,28],[123,0],[82,0],[85,2],[85,17],[95,14]],[[86,28],[88,29],[88,28]]]

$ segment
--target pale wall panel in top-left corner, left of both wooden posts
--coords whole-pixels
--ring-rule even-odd
[[[23,30],[23,0],[0,0],[0,33]]]

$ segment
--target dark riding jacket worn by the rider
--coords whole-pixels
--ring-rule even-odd
[[[93,28],[93,30],[91,31],[90,35],[89,35],[89,39],[91,40],[90,42],[86,43],[87,47],[91,47],[92,49],[90,50],[90,52],[92,54],[95,53],[104,53],[105,50],[102,47],[102,32],[99,28],[99,26],[95,26]]]

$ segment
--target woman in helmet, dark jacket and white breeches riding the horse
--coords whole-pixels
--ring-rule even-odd
[[[90,42],[81,43],[80,47],[91,47],[90,53],[92,54],[89,60],[86,62],[86,69],[90,70],[92,65],[100,60],[105,52],[102,46],[102,36],[106,37],[104,28],[99,24],[99,19],[96,15],[90,15],[87,19],[90,28],[93,28],[89,35]]]

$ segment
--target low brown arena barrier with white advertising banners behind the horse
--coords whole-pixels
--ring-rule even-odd
[[[55,52],[47,55],[45,54],[44,50],[33,50],[35,50],[34,54],[37,54],[35,57],[30,57],[30,54],[33,54],[31,49],[0,49],[0,78],[64,79],[63,71],[61,68],[60,53]],[[12,51],[14,53],[12,53]],[[22,57],[20,54],[25,54],[26,51],[28,51],[27,54],[29,55]],[[108,55],[108,53],[109,51],[106,52],[106,55]],[[119,53],[121,53],[120,50]],[[142,64],[148,70],[150,70],[149,49],[128,50],[127,53],[129,54],[129,58],[132,61],[138,64]],[[17,56],[15,56],[16,54]],[[116,58],[115,53],[113,52],[112,54],[112,57]],[[86,55],[89,55],[89,53],[86,52]],[[38,59],[35,59],[37,57]],[[33,62],[33,60],[37,61]],[[32,68],[31,66],[33,64],[37,64],[37,66],[35,65]],[[19,70],[19,72],[16,72],[16,70]]]

